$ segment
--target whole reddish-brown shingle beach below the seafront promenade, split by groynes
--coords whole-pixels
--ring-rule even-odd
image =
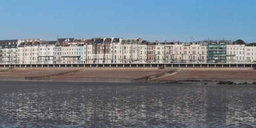
[[[43,76],[60,72],[78,70],[80,68],[16,68],[11,72],[0,73],[0,80],[25,80],[25,76]],[[47,80],[60,81],[107,81],[130,82],[135,78],[158,74],[173,68],[87,68],[85,72],[68,76],[57,76]],[[4,70],[4,69],[1,69]],[[168,80],[212,80],[233,82],[256,82],[256,70],[219,70],[219,69],[180,69],[177,73],[156,78],[154,81]]]

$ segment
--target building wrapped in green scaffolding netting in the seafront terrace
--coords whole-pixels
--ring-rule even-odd
[[[208,63],[226,63],[226,43],[208,44]]]

